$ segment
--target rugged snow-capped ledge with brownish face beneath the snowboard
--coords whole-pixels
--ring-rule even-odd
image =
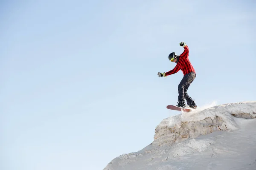
[[[239,127],[234,117],[255,118],[256,102],[218,105],[169,117],[156,127],[153,143],[172,144],[207,135],[216,130],[237,130]]]

